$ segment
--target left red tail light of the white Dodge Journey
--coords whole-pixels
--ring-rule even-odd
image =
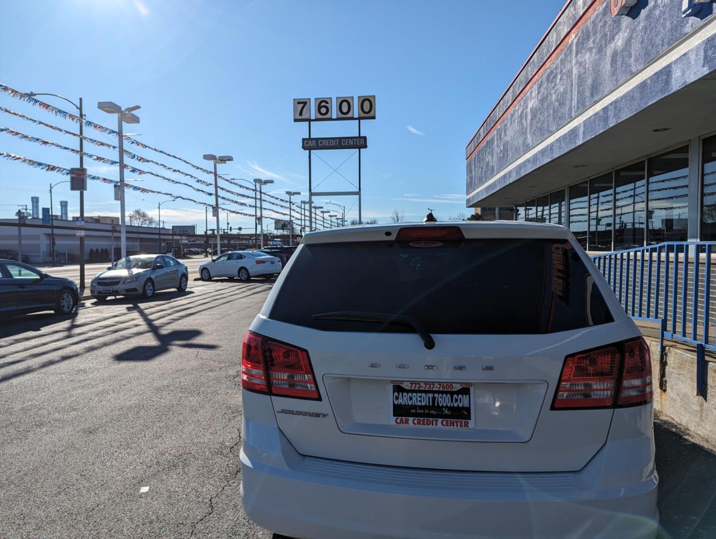
[[[280,397],[321,400],[308,351],[253,331],[243,339],[241,386]]]

